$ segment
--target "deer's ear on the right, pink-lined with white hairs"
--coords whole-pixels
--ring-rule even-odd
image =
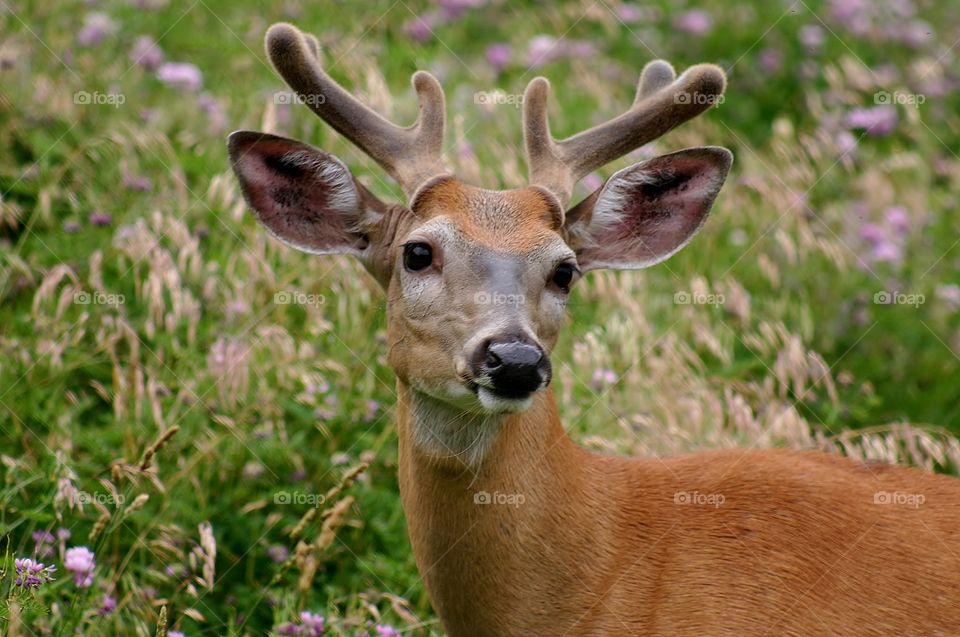
[[[725,148],[688,148],[614,174],[566,215],[580,267],[646,268],[678,252],[703,225],[732,162]]]

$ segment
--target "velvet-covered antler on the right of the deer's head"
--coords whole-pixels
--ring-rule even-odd
[[[608,122],[557,141],[550,134],[550,83],[537,77],[523,95],[523,138],[530,183],[553,192],[562,205],[590,171],[622,157],[696,117],[723,95],[726,77],[712,64],[692,66],[679,78],[673,67],[654,60],[644,67],[630,109]]]

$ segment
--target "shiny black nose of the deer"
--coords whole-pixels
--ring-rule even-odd
[[[493,390],[521,398],[550,382],[550,359],[539,345],[522,340],[490,341],[477,353],[478,376],[486,376]]]

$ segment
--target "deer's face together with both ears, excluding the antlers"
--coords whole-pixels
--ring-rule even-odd
[[[467,411],[527,407],[583,272],[639,268],[700,228],[729,167],[722,149],[620,171],[563,214],[538,187],[490,191],[441,176],[388,206],[336,158],[235,133],[230,154],[258,219],[314,254],[359,257],[386,288],[389,360],[412,388]]]

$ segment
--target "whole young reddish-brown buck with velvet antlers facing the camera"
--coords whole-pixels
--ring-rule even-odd
[[[260,222],[313,254],[352,254],[387,294],[400,489],[420,573],[449,635],[958,635],[960,482],[786,450],[628,459],[568,438],[550,352],[572,286],[654,265],[703,225],[723,148],[634,164],[566,210],[588,172],[709,107],[723,72],[640,76],[619,117],[550,134],[549,84],[523,102],[530,185],[493,191],[443,168],[444,96],[413,76],[400,128],[278,24],[273,65],[403,187],[387,204],[336,157],[237,132],[230,159]]]

